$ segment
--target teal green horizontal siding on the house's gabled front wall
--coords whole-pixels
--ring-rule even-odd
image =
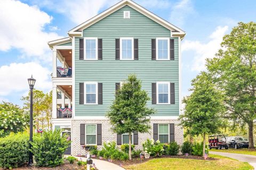
[[[131,19],[123,19],[123,11],[129,10]],[[149,107],[157,109],[154,116],[179,115],[179,45],[174,38],[175,60],[151,60],[151,39],[170,37],[170,30],[147,18],[130,6],[110,14],[108,17],[83,30],[84,37],[102,38],[103,60],[79,60],[79,38],[75,39],[75,114],[76,116],[105,116],[114,100],[115,83],[137,74],[142,88],[151,98],[151,83],[170,81],[175,83],[175,104],[156,105],[148,101]],[[139,60],[115,60],[115,38],[134,37],[139,39]],[[103,83],[103,104],[79,104],[79,83]]]

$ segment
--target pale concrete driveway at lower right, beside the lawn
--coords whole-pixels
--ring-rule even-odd
[[[227,153],[227,152],[214,152],[210,151],[211,154],[214,155],[220,155],[220,156],[225,156],[233,159],[237,159],[239,161],[244,161],[246,163],[249,163],[256,169],[256,156],[253,155],[244,155],[244,154],[239,154],[239,153]]]

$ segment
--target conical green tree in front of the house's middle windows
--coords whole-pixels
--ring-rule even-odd
[[[136,75],[129,75],[128,79],[117,90],[116,99],[110,106],[107,117],[111,128],[117,134],[129,134],[129,159],[131,160],[131,134],[134,131],[146,133],[150,129],[150,116],[155,113],[153,108],[147,107],[150,100],[148,93],[141,90],[141,80]]]

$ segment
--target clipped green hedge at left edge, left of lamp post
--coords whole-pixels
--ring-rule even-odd
[[[16,168],[28,161],[28,135],[11,134],[0,139],[0,167]]]

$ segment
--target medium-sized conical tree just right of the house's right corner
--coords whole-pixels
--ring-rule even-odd
[[[192,93],[183,99],[186,104],[184,114],[180,115],[181,125],[189,129],[190,135],[203,136],[203,156],[205,154],[205,135],[219,132],[222,126],[220,113],[224,110],[223,95],[214,87],[206,72],[201,72],[192,80]]]

